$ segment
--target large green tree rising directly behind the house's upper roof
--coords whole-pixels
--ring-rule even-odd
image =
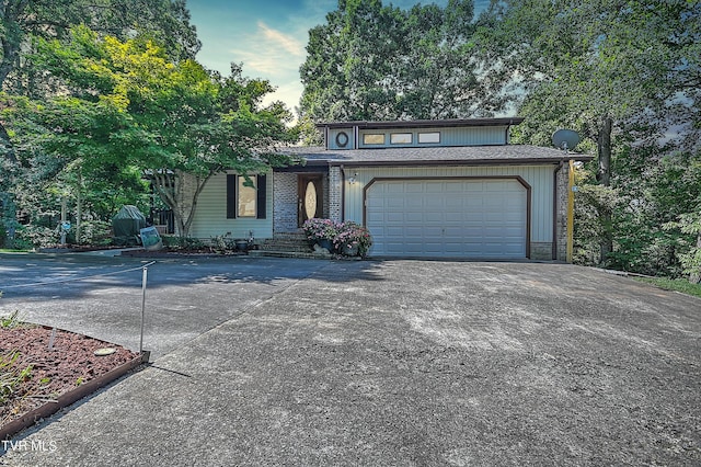
[[[464,117],[475,105],[472,1],[403,11],[340,0],[309,32],[302,117],[313,122]]]

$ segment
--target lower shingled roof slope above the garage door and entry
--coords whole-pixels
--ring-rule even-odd
[[[589,161],[591,156],[527,145],[436,146],[333,150],[292,147],[284,152],[301,157],[308,166],[484,166]]]

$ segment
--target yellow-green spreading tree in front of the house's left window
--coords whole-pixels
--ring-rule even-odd
[[[148,37],[120,42],[87,27],[74,29],[70,42],[42,41],[39,49],[44,68],[76,92],[24,100],[14,106],[15,125],[35,127],[35,146],[59,171],[79,168],[92,179],[104,167],[139,168],[183,236],[214,173],[245,175],[290,161],[274,151],[295,136],[285,126],[289,112],[279,102],[263,107],[273,88],[243,78],[238,66],[222,78],[194,60],[171,61]]]

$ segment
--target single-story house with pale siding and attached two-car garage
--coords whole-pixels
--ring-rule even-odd
[[[323,147],[290,148],[303,166],[246,186],[215,175],[194,237],[256,239],[299,231],[311,217],[354,220],[371,257],[564,260],[570,158],[509,145],[522,118],[320,124]]]

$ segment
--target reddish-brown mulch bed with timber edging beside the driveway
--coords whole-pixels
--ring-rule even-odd
[[[0,405],[0,429],[138,357],[119,345],[59,329],[51,339],[53,332],[53,328],[34,324],[0,327],[0,378],[30,368],[26,377],[14,380],[11,392],[7,380],[0,388],[5,396]],[[99,349],[115,352],[97,356]],[[16,360],[9,364],[15,352]]]

